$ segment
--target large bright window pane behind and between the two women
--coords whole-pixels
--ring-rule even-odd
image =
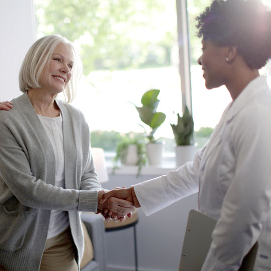
[[[169,123],[182,104],[175,0],[35,3],[38,38],[59,33],[81,53],[84,76],[73,103],[90,129],[144,132],[132,103],[141,105],[143,93],[156,88],[167,118],[155,136],[173,142]]]

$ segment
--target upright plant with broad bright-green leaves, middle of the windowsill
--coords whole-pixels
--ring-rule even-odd
[[[160,93],[159,89],[151,89],[145,92],[141,98],[142,107],[135,106],[137,108],[141,120],[149,125],[150,132],[148,133],[147,130],[143,125],[141,125],[146,133],[146,138],[148,139],[149,143],[155,143],[157,140],[154,138],[154,133],[158,129],[158,127],[165,121],[166,115],[162,112],[157,112],[157,106],[160,103],[160,100],[157,99]]]

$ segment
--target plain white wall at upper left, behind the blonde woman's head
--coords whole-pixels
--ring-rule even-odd
[[[36,37],[33,0],[0,0],[0,101],[22,94],[18,75]]]

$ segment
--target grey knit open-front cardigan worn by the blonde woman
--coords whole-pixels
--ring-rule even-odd
[[[0,264],[39,270],[51,210],[68,211],[80,264],[84,238],[80,212],[97,211],[98,190],[82,113],[57,101],[63,118],[65,189],[55,184],[55,156],[27,93],[0,111]]]

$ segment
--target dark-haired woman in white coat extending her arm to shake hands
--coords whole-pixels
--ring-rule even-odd
[[[199,192],[199,211],[218,219],[202,271],[238,270],[257,240],[255,271],[271,270],[271,91],[258,72],[271,57],[271,12],[217,0],[196,20],[206,87],[225,85],[232,102],[193,162],[101,202],[128,199],[150,215]]]

